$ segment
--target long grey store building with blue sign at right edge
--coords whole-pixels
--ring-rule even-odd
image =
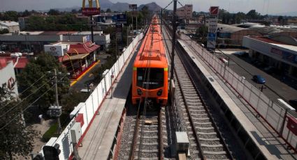
[[[245,36],[242,46],[249,48],[250,57],[277,68],[283,75],[297,79],[297,41],[295,38],[285,35],[278,35],[271,39]]]

